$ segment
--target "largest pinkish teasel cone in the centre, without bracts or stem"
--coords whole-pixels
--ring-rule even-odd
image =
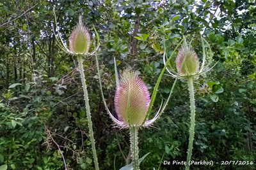
[[[118,119],[130,127],[140,126],[147,115],[150,94],[145,83],[134,73],[125,71],[115,94]]]

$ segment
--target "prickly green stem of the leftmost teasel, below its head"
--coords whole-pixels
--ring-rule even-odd
[[[84,102],[85,102],[85,106],[86,106],[86,115],[87,115],[87,118],[88,118],[90,141],[92,143],[92,153],[93,153],[94,166],[95,166],[95,170],[99,170],[99,164],[98,164],[97,153],[96,153],[96,148],[95,148],[95,141],[94,141],[94,137],[93,137],[92,117],[91,117],[91,113],[90,113],[88,92],[87,92],[87,87],[86,87],[86,81],[85,81],[85,78],[84,78],[83,59],[82,59],[81,55],[77,56],[77,59],[78,59],[79,71],[80,71],[80,74],[81,74],[81,81],[82,81],[83,90],[84,90]]]

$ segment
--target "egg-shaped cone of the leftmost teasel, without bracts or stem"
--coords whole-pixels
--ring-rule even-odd
[[[74,53],[88,53],[90,48],[90,34],[83,24],[82,17],[72,31],[69,38],[70,50]]]

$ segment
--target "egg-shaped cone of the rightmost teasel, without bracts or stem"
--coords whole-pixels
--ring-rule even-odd
[[[184,64],[182,66],[183,60]],[[180,75],[182,76],[191,76],[193,74],[196,74],[198,73],[200,67],[199,59],[196,55],[196,52],[186,43],[182,45],[176,58],[176,67],[178,72],[181,66],[182,69],[180,71]]]

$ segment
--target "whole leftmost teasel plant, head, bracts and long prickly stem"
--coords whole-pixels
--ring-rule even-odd
[[[82,85],[83,85],[84,103],[86,106],[86,116],[88,118],[88,129],[89,129],[90,141],[91,141],[91,145],[92,145],[93,161],[94,161],[95,170],[99,170],[99,163],[98,163],[97,152],[96,152],[96,148],[95,148],[95,140],[93,137],[92,116],[90,113],[90,104],[89,104],[89,99],[88,99],[87,85],[86,85],[84,69],[83,69],[83,58],[93,55],[98,50],[98,48],[100,46],[99,34],[96,31],[95,27],[93,26],[93,29],[94,29],[95,35],[96,35],[96,39],[97,39],[97,45],[95,45],[95,49],[93,50],[93,52],[89,52],[90,45],[91,45],[90,33],[89,33],[88,29],[84,26],[84,23],[82,21],[82,16],[79,15],[79,21],[78,21],[76,27],[73,29],[73,31],[70,34],[69,48],[68,48],[67,45],[64,43],[63,39],[61,39],[61,34],[58,29],[55,11],[54,11],[54,19],[55,19],[57,32],[54,31],[53,24],[52,24],[52,29],[54,32],[54,36],[57,39],[56,42],[57,42],[58,46],[60,46],[60,48],[64,52],[67,52],[71,55],[77,56],[79,72],[81,75],[81,81],[82,81]]]

